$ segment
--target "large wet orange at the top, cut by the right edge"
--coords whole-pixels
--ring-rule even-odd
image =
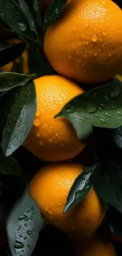
[[[81,83],[101,83],[122,69],[122,11],[110,0],[68,0],[46,31],[53,68]]]

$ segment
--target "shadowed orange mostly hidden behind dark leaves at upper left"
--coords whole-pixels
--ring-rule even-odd
[[[6,40],[7,43],[13,44],[13,43],[20,43],[20,39],[8,39]],[[21,54],[19,58],[15,60],[16,63],[20,63],[20,61],[23,61],[23,72],[24,74],[27,74],[29,72],[28,69],[28,45],[26,45],[24,52]],[[3,70],[4,72],[11,72],[13,70],[13,64],[14,61],[9,62],[8,64],[0,67],[0,70]]]

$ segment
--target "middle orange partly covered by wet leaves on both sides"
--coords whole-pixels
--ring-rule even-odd
[[[34,80],[37,111],[24,146],[43,161],[74,158],[84,148],[72,124],[54,116],[83,90],[63,76],[42,76]]]

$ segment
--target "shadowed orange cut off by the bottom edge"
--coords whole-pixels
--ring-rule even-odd
[[[113,244],[97,234],[75,240],[73,247],[75,256],[116,256]]]

